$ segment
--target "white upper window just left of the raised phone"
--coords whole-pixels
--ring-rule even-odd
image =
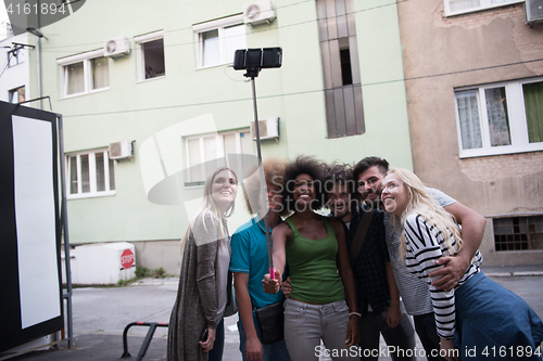
[[[198,24],[192,30],[199,68],[232,63],[233,52],[247,48],[243,15]]]

